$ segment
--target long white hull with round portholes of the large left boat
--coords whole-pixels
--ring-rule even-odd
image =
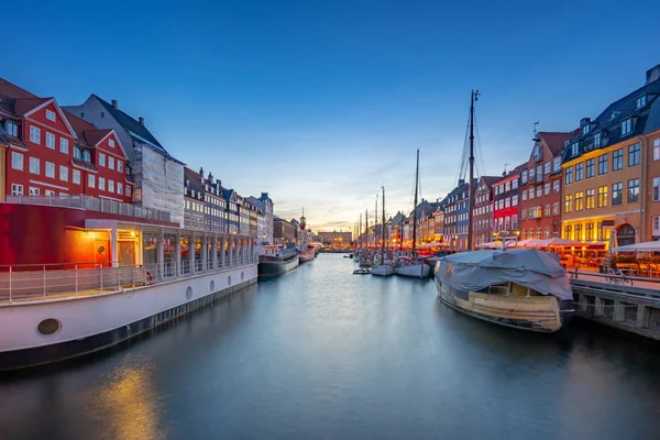
[[[156,285],[0,306],[0,371],[61,361],[113,345],[256,283],[256,264]],[[37,326],[59,322],[51,336]]]

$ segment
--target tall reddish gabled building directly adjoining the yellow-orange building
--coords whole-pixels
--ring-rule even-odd
[[[539,132],[520,173],[520,239],[561,235],[561,151],[575,132]]]

